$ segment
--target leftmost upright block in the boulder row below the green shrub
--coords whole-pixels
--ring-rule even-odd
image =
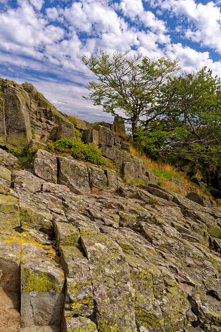
[[[37,149],[34,156],[34,173],[47,182],[57,183],[57,160],[54,154]]]

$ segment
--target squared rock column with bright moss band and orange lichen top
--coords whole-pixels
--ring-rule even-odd
[[[21,253],[21,328],[59,327],[64,273],[56,251],[50,246],[42,248],[28,236],[21,243]]]

